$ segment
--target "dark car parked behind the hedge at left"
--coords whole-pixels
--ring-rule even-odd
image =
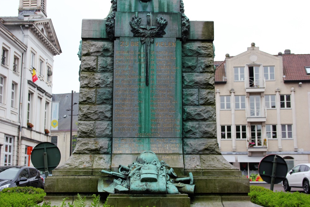
[[[0,166],[0,191],[7,187],[39,187],[44,189],[40,172],[27,166]]]

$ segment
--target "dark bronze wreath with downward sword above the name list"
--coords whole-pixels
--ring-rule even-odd
[[[145,84],[148,86],[148,54],[150,52],[150,45],[154,43],[155,37],[163,37],[166,32],[164,29],[166,28],[168,22],[162,16],[156,18],[157,26],[151,26],[150,14],[147,14],[147,25],[140,25],[141,18],[140,17],[132,17],[131,22],[129,22],[131,26],[131,32],[134,33],[134,37],[141,37],[140,41],[142,44],[146,43],[145,50]]]

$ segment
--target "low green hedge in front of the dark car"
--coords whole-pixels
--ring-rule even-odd
[[[41,188],[11,187],[0,192],[1,207],[32,207],[43,201],[45,192]]]

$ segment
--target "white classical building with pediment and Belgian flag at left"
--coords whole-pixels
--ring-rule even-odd
[[[0,17],[7,31],[0,37],[0,165],[28,165],[27,147],[51,141],[44,130],[51,129],[53,59],[61,48],[45,6],[20,0],[18,17]]]

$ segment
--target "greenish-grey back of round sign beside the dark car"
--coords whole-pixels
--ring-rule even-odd
[[[35,168],[45,172],[55,169],[60,162],[60,151],[56,145],[51,142],[42,142],[35,146],[31,153],[31,162]]]

